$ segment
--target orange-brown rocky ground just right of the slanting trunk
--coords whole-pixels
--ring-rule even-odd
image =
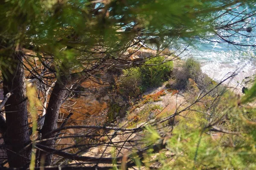
[[[80,87],[83,91],[79,92],[78,97],[67,100],[64,104],[66,108],[61,109],[61,113],[64,114],[63,118],[72,112],[71,124],[96,125],[104,123],[107,120],[105,115],[110,100],[106,97],[108,95],[105,91],[107,86],[90,80],[82,83]]]

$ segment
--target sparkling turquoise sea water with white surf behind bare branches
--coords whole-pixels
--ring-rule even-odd
[[[254,7],[253,7],[254,8]],[[243,28],[244,31],[237,32],[222,32],[222,36],[232,35],[229,40],[241,44],[256,44],[256,17],[253,8],[239,7],[233,9],[233,12],[220,17],[220,23],[232,23],[240,20],[241,17],[246,17],[248,13],[253,14],[246,22],[238,24],[233,28]],[[256,8],[256,7],[255,7]],[[242,13],[237,17],[237,13]],[[231,20],[231,21],[230,21]],[[251,27],[252,32],[246,32],[246,28]],[[208,37],[209,40],[223,42],[217,36]],[[221,81],[223,78],[231,75],[236,71],[238,74],[229,83],[239,85],[239,83],[247,76],[256,73],[256,51],[255,47],[234,46],[228,43],[210,42],[198,38],[195,40],[195,45],[187,51],[192,55],[202,66],[202,71],[211,78]],[[186,58],[187,56],[184,56]],[[239,82],[239,83],[238,83]]]

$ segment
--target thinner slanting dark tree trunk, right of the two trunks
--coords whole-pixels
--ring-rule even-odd
[[[49,134],[47,133],[51,132],[52,130],[55,130],[57,128],[57,121],[58,121],[58,113],[62,104],[62,101],[67,95],[67,88],[66,86],[70,82],[70,76],[63,75],[58,78],[56,81],[56,84],[52,90],[51,97],[49,99],[49,104],[47,107],[45,119],[44,119],[44,125],[41,130],[41,136],[42,139],[47,139],[47,138],[52,138],[56,135],[54,134]],[[55,143],[54,139],[47,140],[42,142],[41,144],[48,146],[48,147],[53,147]],[[41,161],[41,166],[48,166],[51,164],[52,161],[52,154],[46,153],[46,152],[41,152],[39,154],[39,161]]]

